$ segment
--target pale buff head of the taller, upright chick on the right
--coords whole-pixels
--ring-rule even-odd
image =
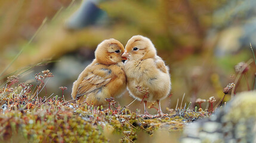
[[[153,58],[155,55],[156,48],[150,39],[141,35],[135,35],[128,40],[122,57],[128,58],[128,60],[144,60]]]

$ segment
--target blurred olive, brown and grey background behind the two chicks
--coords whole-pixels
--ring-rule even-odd
[[[143,35],[170,67],[172,91],[162,101],[164,112],[175,108],[177,99],[180,106],[184,93],[183,105],[192,101],[195,107],[196,98],[212,96],[219,101],[223,88],[235,80],[234,66],[253,58],[249,43],[256,47],[255,6],[254,0],[0,1],[1,77],[51,60],[20,74],[20,82],[35,85],[33,74],[49,69],[54,77],[41,95],[61,95],[58,87],[66,86],[64,96],[71,100],[72,83],[91,63],[98,43],[115,38],[125,45],[131,36]],[[246,73],[250,86],[254,71],[252,63]],[[237,91],[244,90],[242,78]],[[126,93],[116,100],[124,106],[133,99]],[[139,101],[129,108],[143,113]]]

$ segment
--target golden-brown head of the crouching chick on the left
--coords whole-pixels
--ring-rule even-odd
[[[124,51],[124,45],[121,42],[116,39],[107,39],[98,44],[95,58],[100,64],[116,64],[126,59],[121,57]]]

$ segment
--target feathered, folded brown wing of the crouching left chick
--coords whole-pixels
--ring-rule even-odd
[[[107,85],[112,79],[112,70],[106,68],[95,69],[88,72],[82,82],[78,86],[78,92],[76,98],[83,95],[90,94],[91,92],[97,92],[101,88]]]

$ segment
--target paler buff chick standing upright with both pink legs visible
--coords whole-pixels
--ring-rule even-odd
[[[141,35],[132,36],[125,46],[122,57],[125,62],[127,89],[132,97],[144,102],[143,117],[163,117],[160,100],[166,98],[171,90],[169,68],[161,57],[156,55],[156,48],[149,38]],[[147,101],[158,102],[158,114],[147,112]]]

